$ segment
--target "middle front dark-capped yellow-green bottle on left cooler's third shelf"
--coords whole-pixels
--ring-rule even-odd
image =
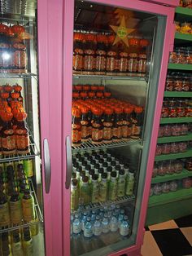
[[[23,215],[22,215],[19,192],[12,193],[9,205],[10,205],[11,223],[12,224],[21,223]]]

